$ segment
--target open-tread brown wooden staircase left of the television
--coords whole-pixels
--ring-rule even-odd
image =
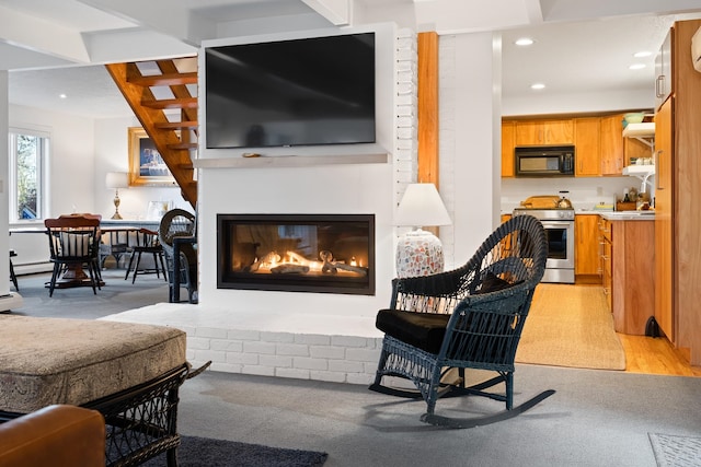
[[[197,151],[198,136],[197,59],[105,67],[173,174],[183,198],[195,208],[197,182],[192,155]]]

